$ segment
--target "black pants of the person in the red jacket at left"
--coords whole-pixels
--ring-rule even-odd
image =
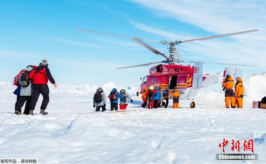
[[[29,110],[35,109],[35,106],[36,106],[36,103],[38,101],[40,94],[42,94],[42,97],[43,97],[41,109],[43,109],[43,110],[46,109],[46,107],[49,103],[48,85],[46,85],[46,84],[41,84],[41,85],[33,84],[32,99],[31,99],[31,103],[29,105]]]

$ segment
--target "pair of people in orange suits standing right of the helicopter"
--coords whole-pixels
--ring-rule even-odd
[[[243,81],[240,77],[236,78],[236,84],[234,79],[228,74],[226,78],[223,80],[222,85],[224,86],[225,93],[225,107],[231,108],[242,108],[243,107],[243,96],[244,96],[244,87]],[[235,86],[235,92],[233,90]]]

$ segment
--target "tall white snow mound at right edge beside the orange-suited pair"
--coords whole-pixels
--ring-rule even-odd
[[[251,75],[243,80],[245,100],[260,101],[266,96],[266,74]]]

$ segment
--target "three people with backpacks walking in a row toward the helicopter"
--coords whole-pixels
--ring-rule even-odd
[[[131,96],[124,89],[121,89],[120,92],[117,92],[117,89],[113,88],[108,98],[111,104],[111,111],[118,110],[119,100],[119,109],[121,110],[127,109],[128,100],[130,100],[131,103],[133,102]],[[93,96],[93,107],[96,107],[96,112],[99,112],[101,108],[102,112],[106,110],[106,95],[101,87],[96,90],[96,93]]]

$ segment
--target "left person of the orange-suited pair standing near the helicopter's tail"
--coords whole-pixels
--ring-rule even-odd
[[[229,108],[231,101],[232,108],[235,108],[234,90],[232,89],[235,85],[233,78],[229,74],[226,75],[222,85],[225,86],[225,107]]]

